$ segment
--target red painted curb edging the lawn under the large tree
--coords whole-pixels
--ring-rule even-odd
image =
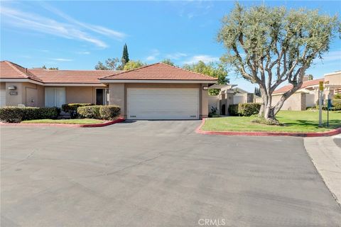
[[[341,133],[341,128],[333,129],[332,131],[320,133],[275,133],[275,132],[234,132],[234,131],[202,131],[201,128],[205,124],[205,118],[202,118],[202,123],[195,130],[195,133],[205,135],[254,135],[254,136],[299,136],[299,137],[320,137],[331,136]]]

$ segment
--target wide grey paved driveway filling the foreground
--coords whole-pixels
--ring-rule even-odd
[[[1,226],[340,226],[303,139],[199,124],[1,127]]]

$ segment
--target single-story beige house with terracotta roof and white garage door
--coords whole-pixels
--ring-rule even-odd
[[[129,71],[26,69],[1,61],[1,106],[118,105],[126,119],[199,119],[217,79],[163,63]]]

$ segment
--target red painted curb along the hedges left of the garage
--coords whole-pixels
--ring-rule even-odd
[[[109,126],[114,123],[125,121],[124,118],[117,118],[114,121],[107,121],[104,123],[90,123],[90,124],[73,124],[73,123],[0,123],[0,126],[57,126],[64,128],[97,128]]]

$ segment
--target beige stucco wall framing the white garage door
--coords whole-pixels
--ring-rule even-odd
[[[207,84],[138,84],[138,83],[111,83],[109,84],[109,104],[121,107],[121,116],[126,118],[126,90],[128,88],[198,88],[200,118],[208,115],[208,91],[201,87]]]

